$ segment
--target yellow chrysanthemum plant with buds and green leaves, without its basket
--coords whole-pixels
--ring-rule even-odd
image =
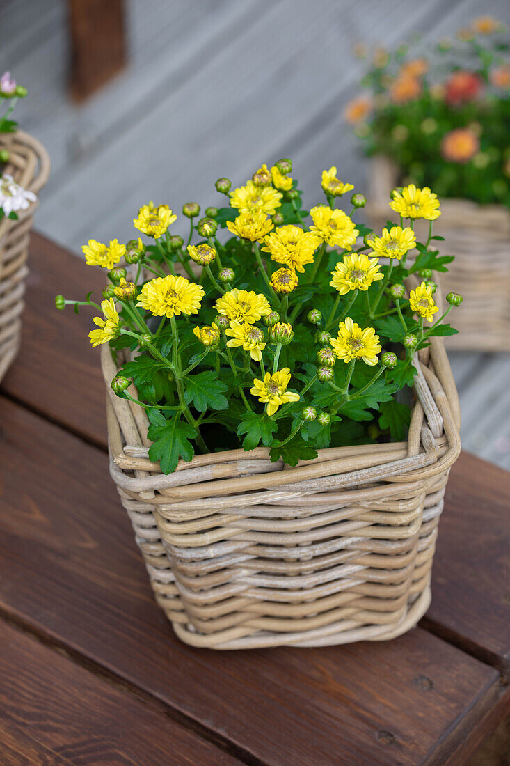
[[[110,345],[113,391],[145,409],[165,473],[237,447],[295,466],[322,447],[404,440],[417,351],[456,332],[444,320],[462,298],[436,305],[433,273],[451,258],[433,248],[433,191],[394,190],[397,220],[373,232],[335,165],[308,209],[291,174],[283,159],[234,189],[219,178],[227,205],[199,218],[187,202],[185,237],[168,205],[142,205],[136,238],[83,246],[108,277],[101,302],[57,296],[59,309],[96,309],[90,342]],[[430,221],[423,243],[417,218]]]

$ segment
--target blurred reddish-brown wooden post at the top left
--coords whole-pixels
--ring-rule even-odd
[[[67,0],[71,94],[77,101],[119,74],[126,64],[123,0]]]

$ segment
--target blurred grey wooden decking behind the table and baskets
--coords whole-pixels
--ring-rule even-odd
[[[108,0],[104,0],[107,4]],[[36,227],[80,252],[133,236],[145,201],[221,203],[263,162],[293,159],[306,201],[338,166],[364,191],[367,165],[342,110],[365,68],[352,46],[436,40],[477,15],[510,21],[508,0],[126,0],[127,64],[82,103],[69,96],[65,0],[2,0],[0,72],[28,87],[16,119],[47,147]],[[176,232],[178,233],[178,224]],[[57,286],[56,286],[57,289]],[[451,355],[463,444],[510,468],[510,357]]]

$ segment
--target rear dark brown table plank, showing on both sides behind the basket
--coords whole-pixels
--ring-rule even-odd
[[[92,312],[54,309],[55,293],[79,298],[104,274],[32,234],[23,345],[4,391],[106,447],[99,353],[87,339]],[[51,363],[48,358],[51,357]],[[433,602],[423,626],[508,673],[510,473],[463,453],[450,476],[433,568]]]

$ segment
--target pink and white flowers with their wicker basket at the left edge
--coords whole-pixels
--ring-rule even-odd
[[[19,349],[28,237],[36,192],[49,173],[44,147],[11,119],[26,95],[9,72],[0,77],[0,380]]]

